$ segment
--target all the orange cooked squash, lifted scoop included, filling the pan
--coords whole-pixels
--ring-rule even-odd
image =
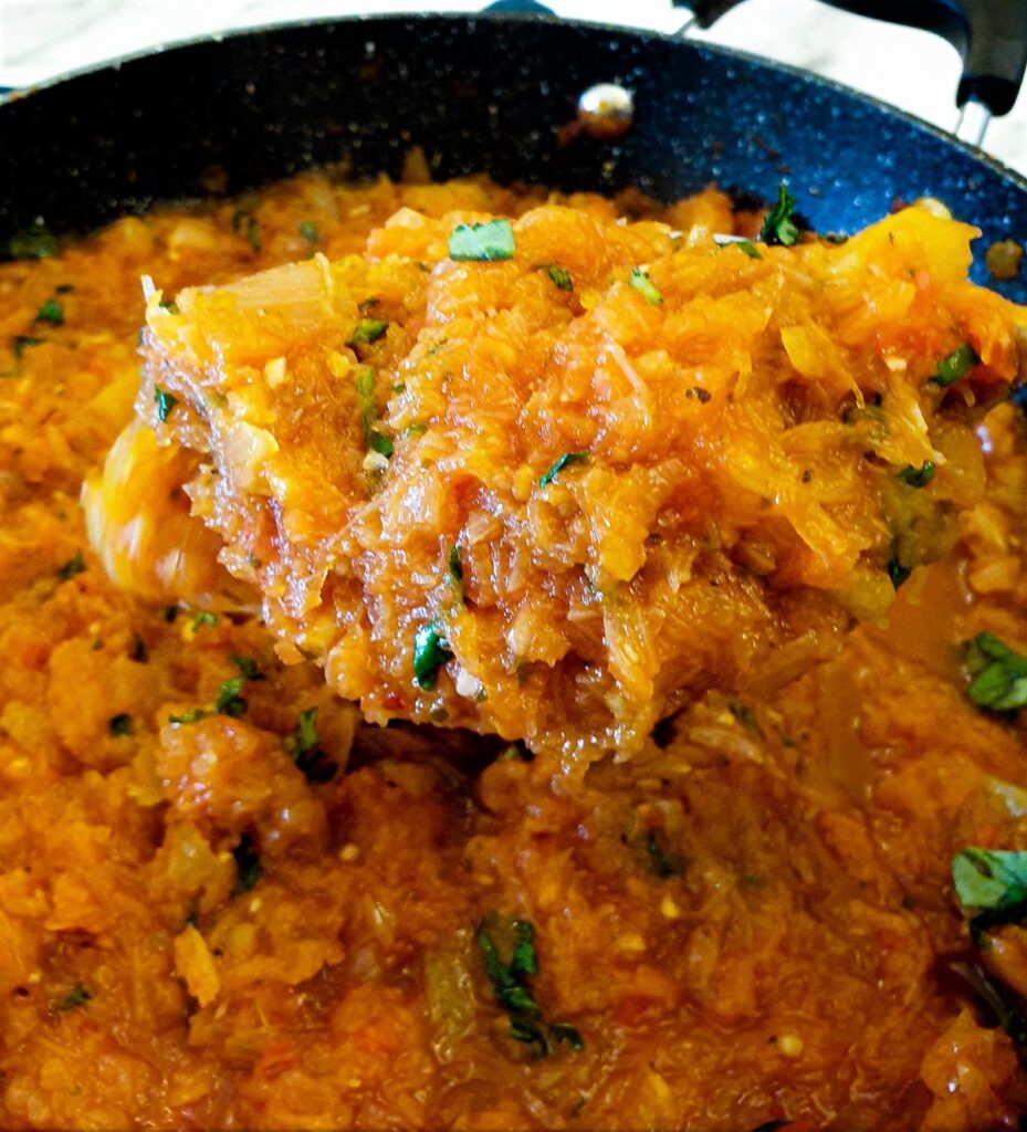
[[[1017,1126],[1024,312],[759,225],[309,174],[0,264],[0,1127]]]

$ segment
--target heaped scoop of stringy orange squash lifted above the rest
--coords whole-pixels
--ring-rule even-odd
[[[570,765],[830,652],[951,549],[1027,323],[967,281],[974,229],[718,247],[544,205],[460,258],[493,220],[404,208],[335,261],[151,294],[138,411],[198,454],[283,659]]]

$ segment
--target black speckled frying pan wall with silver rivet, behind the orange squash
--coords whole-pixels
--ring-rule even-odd
[[[524,0],[520,0],[521,3]],[[690,7],[709,23],[734,0]],[[960,98],[1009,110],[1027,55],[1025,0],[853,0],[928,26],[962,52]],[[617,142],[557,144],[583,89],[634,92]],[[42,217],[84,230],[157,199],[236,192],[345,158],[399,173],[420,144],[438,178],[668,199],[711,181],[767,199],[785,178],[806,221],[851,231],[898,199],[941,198],[984,249],[1027,238],[1027,181],[939,130],[823,79],[739,52],[547,17],[342,19],[248,32],[134,58],[0,109],[0,246]],[[1027,301],[1020,280],[1000,290]]]

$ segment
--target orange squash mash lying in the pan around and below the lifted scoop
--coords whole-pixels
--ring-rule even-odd
[[[1005,395],[1022,316],[959,290],[965,230],[938,222],[926,274],[892,260],[876,293],[879,315],[908,300],[874,348],[919,359],[916,388],[964,335],[984,359],[930,401],[934,481],[888,504],[919,563],[888,616],[871,539],[845,618],[833,598],[797,601],[743,679],[568,779],[493,738],[360,723],[319,668],[284,666],[240,611],[254,578],[229,578],[189,516],[199,457],[134,429],[96,478],[139,388],[142,274],[171,297],[384,249],[401,207],[430,222],[545,203],[307,177],[0,268],[3,1126],[956,1130],[1027,1112],[1011,1040],[945,974],[969,947],[952,855],[1027,846],[1024,739],[967,698],[957,652],[985,629],[1027,646],[1027,447]],[[599,198],[556,203],[616,221]],[[735,223],[716,194],[650,220],[696,242]],[[731,257],[714,272],[737,288],[743,255],[709,254]],[[61,325],[37,317],[53,298]],[[832,324],[857,343],[859,307]],[[825,365],[793,345],[797,369]],[[842,409],[872,451],[873,414]],[[839,500],[847,533],[883,506],[883,480],[859,482]],[[760,550],[730,558],[750,581]],[[172,619],[182,593],[197,608]],[[479,940],[483,925],[508,966],[519,923],[544,1056],[512,1037]],[[1022,929],[995,950],[1027,990]]]

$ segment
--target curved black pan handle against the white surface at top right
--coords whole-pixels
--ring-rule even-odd
[[[739,0],[674,0],[709,27]],[[979,102],[1008,114],[1027,68],[1025,0],[827,0],[858,16],[906,24],[948,40],[962,58],[956,102]]]

